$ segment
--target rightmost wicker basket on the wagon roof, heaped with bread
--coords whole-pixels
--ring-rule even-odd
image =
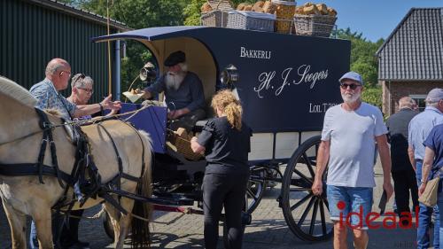
[[[295,15],[295,32],[297,35],[329,37],[336,20],[336,17],[327,15]]]

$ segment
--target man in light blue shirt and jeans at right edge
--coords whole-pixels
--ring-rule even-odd
[[[443,89],[431,89],[425,99],[426,108],[423,113],[416,115],[409,122],[408,130],[408,154],[413,167],[416,168],[416,180],[420,185],[429,179],[422,177],[424,160],[424,140],[436,125],[443,123]],[[437,217],[434,224],[434,248],[439,248],[439,207],[434,206],[433,213]],[[420,204],[418,214],[417,248],[428,248],[431,246],[429,229],[431,225],[432,208]]]

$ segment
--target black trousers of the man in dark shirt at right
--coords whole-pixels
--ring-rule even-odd
[[[412,167],[392,172],[393,189],[395,192],[395,203],[397,205],[397,213],[410,212],[409,209],[409,191],[412,198],[414,211],[418,206],[418,187],[416,184],[416,171]]]

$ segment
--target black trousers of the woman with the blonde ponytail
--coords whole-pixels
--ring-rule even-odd
[[[203,211],[205,213],[205,248],[215,249],[219,238],[219,221],[224,206],[228,248],[242,248],[242,210],[245,206],[249,172],[206,174],[203,179]]]

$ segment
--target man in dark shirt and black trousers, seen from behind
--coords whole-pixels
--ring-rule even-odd
[[[397,214],[400,217],[410,214],[409,191],[411,193],[413,210],[418,208],[418,187],[416,185],[416,171],[408,157],[408,124],[418,114],[414,111],[414,100],[411,97],[401,97],[399,112],[394,113],[386,121],[389,130],[388,140],[391,144],[392,179],[395,191]],[[408,226],[408,219],[403,219]]]

